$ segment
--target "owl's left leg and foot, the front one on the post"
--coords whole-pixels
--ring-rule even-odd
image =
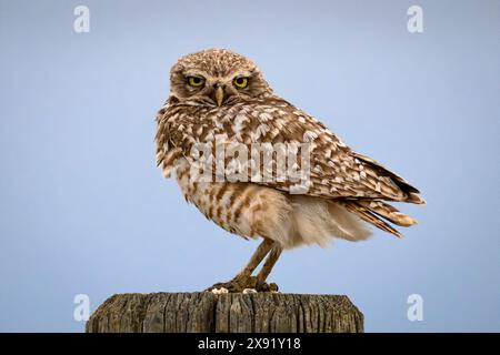
[[[228,292],[234,293],[242,292],[246,288],[256,288],[257,277],[252,276],[252,272],[259,266],[266,255],[268,255],[274,243],[271,240],[264,239],[242,271],[240,271],[231,281],[217,283],[207,291],[226,288]]]

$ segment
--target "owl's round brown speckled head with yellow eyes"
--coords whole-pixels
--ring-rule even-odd
[[[171,102],[221,106],[272,94],[259,68],[226,49],[209,49],[179,59],[170,71]]]

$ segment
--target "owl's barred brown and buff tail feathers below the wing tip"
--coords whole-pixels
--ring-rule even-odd
[[[342,204],[348,211],[354,213],[364,222],[368,222],[384,232],[391,233],[397,237],[401,237],[401,233],[382,219],[401,226],[417,224],[414,219],[399,212],[394,206],[382,201],[343,201]]]

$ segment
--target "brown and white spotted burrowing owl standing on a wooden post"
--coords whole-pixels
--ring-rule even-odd
[[[416,221],[386,201],[424,203],[404,179],[274,94],[252,61],[229,50],[179,59],[157,123],[157,163],[167,178],[176,173],[186,200],[224,230],[263,239],[233,280],[212,287],[273,290],[266,280],[283,250],[366,240],[368,224],[400,236],[386,221]],[[290,159],[280,170],[283,155]]]

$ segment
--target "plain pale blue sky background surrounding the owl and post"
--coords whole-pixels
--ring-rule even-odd
[[[73,8],[90,8],[90,33]],[[423,8],[424,32],[407,31]],[[223,47],[427,206],[397,240],[286,253],[282,292],[347,294],[368,332],[500,331],[499,1],[0,0],[0,331],[81,332],[114,293],[198,291],[257,242],[154,166],[177,58]],[[407,297],[423,297],[422,322]]]

